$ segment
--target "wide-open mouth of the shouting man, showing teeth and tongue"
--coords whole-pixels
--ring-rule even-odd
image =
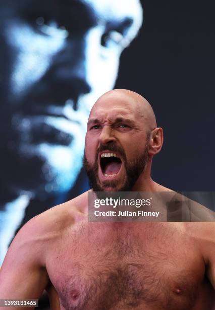
[[[100,167],[105,177],[115,177],[122,166],[122,161],[116,153],[105,152],[100,154]]]

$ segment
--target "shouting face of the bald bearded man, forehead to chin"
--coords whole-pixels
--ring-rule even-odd
[[[93,190],[132,190],[147,164],[149,138],[132,98],[103,96],[90,113],[85,140],[84,166]]]

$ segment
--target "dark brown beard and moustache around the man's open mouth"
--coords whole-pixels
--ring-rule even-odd
[[[89,185],[92,190],[105,191],[104,188],[111,187],[113,191],[131,191],[139,176],[144,172],[148,162],[149,139],[150,133],[147,133],[145,148],[143,152],[139,154],[139,156],[136,157],[133,161],[128,161],[124,150],[117,146],[114,142],[110,142],[108,145],[100,145],[100,147],[97,149],[96,159],[98,158],[98,153],[106,149],[120,153],[124,161],[126,171],[124,182],[120,187],[118,180],[106,180],[101,184],[98,178],[98,161],[95,160],[93,165],[89,164],[84,152],[83,165],[87,172]]]

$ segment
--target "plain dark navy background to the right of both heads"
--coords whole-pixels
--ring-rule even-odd
[[[174,190],[214,190],[215,4],[142,1],[144,24],[121,57],[115,88],[143,95],[165,142],[153,179]]]

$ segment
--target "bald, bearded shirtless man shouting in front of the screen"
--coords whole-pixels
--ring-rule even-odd
[[[93,188],[168,191],[150,177],[162,144],[162,128],[143,97],[105,93],[91,110],[85,141]],[[107,152],[121,163],[102,163]],[[85,192],[21,228],[0,272],[0,298],[38,299],[46,289],[52,309],[210,310],[214,228],[213,222],[89,222]]]

